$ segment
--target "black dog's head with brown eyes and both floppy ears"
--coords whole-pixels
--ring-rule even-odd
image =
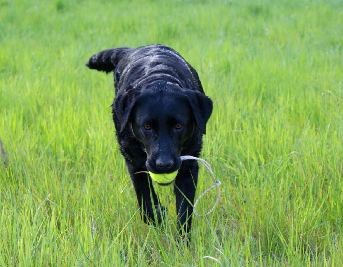
[[[153,173],[170,173],[180,167],[184,143],[194,131],[205,134],[212,113],[212,100],[204,94],[168,87],[129,90],[116,97],[113,105],[120,132],[131,128],[145,147],[146,167]]]

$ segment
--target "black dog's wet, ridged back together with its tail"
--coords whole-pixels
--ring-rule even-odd
[[[106,49],[92,56],[87,66],[107,73],[114,71],[116,92],[163,80],[203,93],[198,73],[178,52],[164,45]]]

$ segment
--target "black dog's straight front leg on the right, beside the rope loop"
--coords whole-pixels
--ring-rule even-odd
[[[191,230],[194,195],[198,181],[199,165],[195,160],[182,162],[174,186],[176,196],[176,212],[178,214],[178,229],[180,236],[186,235]]]

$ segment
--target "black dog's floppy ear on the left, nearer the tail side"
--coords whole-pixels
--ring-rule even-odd
[[[115,112],[120,122],[119,133],[125,129],[128,121],[132,118],[137,103],[137,97],[138,90],[130,89],[118,95],[113,101],[111,107],[112,112]]]

